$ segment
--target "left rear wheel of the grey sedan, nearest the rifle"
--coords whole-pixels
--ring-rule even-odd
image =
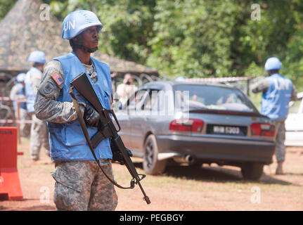
[[[156,175],[165,171],[167,160],[158,160],[157,140],[150,134],[144,143],[143,169],[146,174]]]

